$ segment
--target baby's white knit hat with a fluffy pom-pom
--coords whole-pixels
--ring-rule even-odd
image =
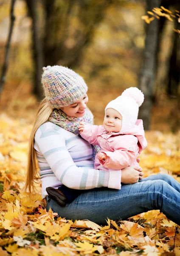
[[[136,87],[130,87],[124,90],[124,92],[118,98],[109,102],[105,108],[113,108],[118,111],[122,116],[121,133],[124,133],[131,129],[138,118],[139,107],[144,101],[144,95]]]

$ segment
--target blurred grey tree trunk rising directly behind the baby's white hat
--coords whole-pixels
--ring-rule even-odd
[[[151,11],[154,7],[160,7],[160,3],[161,0],[147,0],[147,11]],[[149,25],[146,25],[143,67],[141,68],[139,81],[139,88],[144,93],[144,102],[140,108],[139,117],[143,119],[145,130],[149,130],[150,128],[153,91],[155,87],[157,69],[158,36],[158,19],[155,19]]]

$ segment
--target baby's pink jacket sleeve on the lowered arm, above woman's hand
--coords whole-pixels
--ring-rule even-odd
[[[128,135],[131,136],[131,135]],[[137,147],[137,138],[132,136],[130,143],[121,143],[121,147],[118,146],[118,143],[115,145],[115,151],[101,151],[107,154],[107,160],[99,160],[100,164],[108,169],[124,169],[134,162],[136,158],[136,147]],[[123,146],[123,145],[124,146]]]

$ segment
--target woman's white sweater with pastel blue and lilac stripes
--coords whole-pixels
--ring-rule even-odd
[[[42,182],[42,198],[46,187],[60,185],[72,189],[109,187],[121,189],[121,170],[95,170],[92,146],[81,137],[51,122],[41,125],[34,137]]]

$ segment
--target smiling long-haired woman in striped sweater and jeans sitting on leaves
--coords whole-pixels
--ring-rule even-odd
[[[51,207],[62,218],[105,224],[107,217],[123,220],[160,209],[180,225],[180,184],[171,176],[152,175],[142,179],[142,170],[131,166],[122,172],[93,169],[93,155],[98,150],[78,136],[79,120],[93,122],[86,108],[87,85],[81,76],[66,67],[48,66],[43,70],[45,99],[31,132],[28,155],[25,187],[30,194],[34,192],[37,157],[46,209]],[[60,207],[48,197],[46,188],[56,189],[62,184],[71,189],[90,190]]]

